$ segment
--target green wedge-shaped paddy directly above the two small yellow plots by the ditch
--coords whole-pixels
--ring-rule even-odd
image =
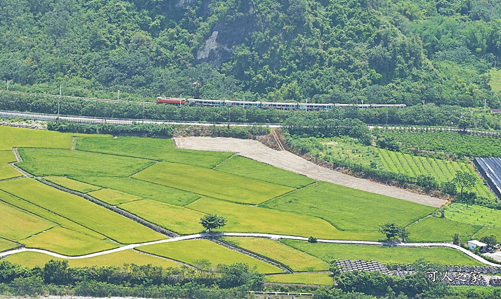
[[[109,176],[77,176],[74,178],[103,188],[110,188],[145,199],[153,199],[174,205],[186,205],[200,198],[199,194],[136,178]]]

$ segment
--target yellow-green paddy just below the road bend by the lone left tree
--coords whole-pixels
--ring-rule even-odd
[[[187,248],[196,248],[189,250]],[[261,273],[279,273],[282,269],[265,261],[233,251],[206,239],[194,239],[138,247],[138,250],[172,258],[189,264],[196,260],[208,259],[215,268],[218,264],[232,264],[235,262],[247,263],[250,267],[257,266]]]

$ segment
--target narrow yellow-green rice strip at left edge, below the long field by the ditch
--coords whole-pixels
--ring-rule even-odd
[[[78,223],[71,221],[70,219],[67,219],[61,215],[58,215],[50,210],[47,210],[43,207],[35,205],[35,204],[33,204],[29,201],[26,201],[22,198],[13,196],[12,194],[6,193],[2,190],[0,190],[0,201],[10,203],[13,206],[16,206],[17,208],[19,208],[20,210],[35,214],[41,218],[44,218],[44,219],[47,219],[51,222],[57,223],[57,224],[59,224],[63,227],[66,227],[68,229],[82,232],[82,233],[85,233],[87,235],[99,238],[99,239],[106,238],[106,236],[104,236],[100,233],[97,233],[94,230],[91,230],[85,226],[82,226]]]

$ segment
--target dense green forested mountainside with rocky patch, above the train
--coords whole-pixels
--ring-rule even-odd
[[[498,107],[500,59],[499,0],[0,0],[0,79],[75,95]]]

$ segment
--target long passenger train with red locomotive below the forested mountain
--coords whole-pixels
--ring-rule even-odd
[[[171,105],[201,105],[209,107],[242,107],[250,108],[257,107],[261,109],[275,108],[288,110],[328,110],[333,108],[345,109],[347,107],[357,107],[359,109],[377,109],[383,107],[404,108],[406,104],[338,104],[338,103],[302,103],[302,102],[267,102],[267,101],[240,101],[240,100],[217,100],[217,99],[196,99],[196,98],[179,98],[179,97],[163,97],[159,96],[156,100],[157,104]]]

